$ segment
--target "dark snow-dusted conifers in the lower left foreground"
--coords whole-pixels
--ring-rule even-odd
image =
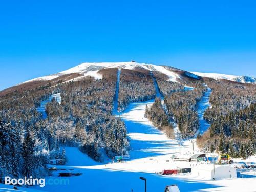
[[[0,115],[0,183],[6,176],[44,178],[49,174],[46,167],[49,159],[66,158],[58,147],[52,148],[53,143],[47,142],[48,139],[52,141],[50,136],[47,137],[48,130],[40,129],[28,126],[20,131],[20,126],[14,127]]]

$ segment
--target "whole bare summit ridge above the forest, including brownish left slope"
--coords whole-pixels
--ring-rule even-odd
[[[119,68],[119,69],[144,69],[152,72],[158,72],[165,74],[168,77],[168,81],[172,82],[181,82],[183,78],[192,78],[200,79],[201,77],[210,77],[214,79],[227,79],[236,82],[242,83],[256,83],[256,78],[247,77],[247,76],[236,76],[236,75],[225,75],[225,74],[216,74],[216,73],[199,73],[199,72],[188,72],[185,70],[177,69],[170,66],[159,66],[146,63],[138,62],[85,62],[81,63],[78,66],[70,68],[65,71],[61,71],[56,74],[51,74],[48,76],[38,77],[31,79],[22,83],[17,84],[16,86],[7,88],[3,91],[0,91],[0,95],[10,93],[12,91],[18,90],[29,90],[37,88],[39,86],[45,86],[48,83],[51,83],[52,86],[69,81],[78,81],[86,76],[94,77],[95,79],[101,79],[102,74],[100,70],[108,68]]]

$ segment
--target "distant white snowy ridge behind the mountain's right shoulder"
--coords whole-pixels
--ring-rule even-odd
[[[194,72],[194,71],[191,71],[190,73],[193,73],[201,77],[209,77],[216,80],[226,79],[226,80],[231,80],[231,81],[236,81],[241,83],[256,83],[256,78],[248,77],[248,76],[226,75],[226,74],[220,74],[220,73],[200,73],[200,72]]]

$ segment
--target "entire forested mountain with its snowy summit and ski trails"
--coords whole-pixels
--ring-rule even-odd
[[[202,150],[247,158],[255,102],[255,84],[169,66],[83,63],[0,92],[0,180],[48,176],[50,159],[70,158],[62,146],[106,163],[176,153],[178,135],[186,153],[197,137]]]

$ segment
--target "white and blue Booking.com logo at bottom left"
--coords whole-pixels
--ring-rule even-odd
[[[68,178],[49,178],[49,179],[37,179],[30,176],[29,178],[19,178],[19,179],[11,179],[11,177],[5,177],[6,185],[39,185],[40,187],[44,187],[46,185],[69,185]]]

